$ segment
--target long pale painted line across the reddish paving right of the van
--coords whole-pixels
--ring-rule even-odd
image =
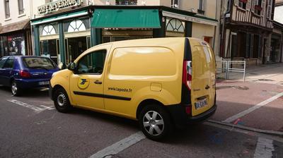
[[[255,111],[256,109],[258,109],[260,107],[263,107],[263,106],[265,106],[266,104],[268,104],[270,102],[275,101],[276,99],[278,99],[279,97],[282,97],[282,96],[283,96],[283,92],[279,93],[278,95],[275,95],[273,97],[270,97],[270,99],[266,99],[265,101],[262,101],[262,102],[256,104],[255,106],[250,107],[249,109],[246,109],[245,111],[241,111],[240,113],[238,113],[236,115],[233,115],[233,116],[229,117],[228,119],[226,119],[226,120],[224,120],[222,122],[230,123],[231,121],[239,119],[239,118],[245,116],[246,114],[249,114],[250,112]]]

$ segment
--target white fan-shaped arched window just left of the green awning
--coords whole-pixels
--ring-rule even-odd
[[[79,32],[89,29],[89,18],[74,19],[64,22],[64,32]]]

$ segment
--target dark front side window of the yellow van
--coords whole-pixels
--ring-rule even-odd
[[[103,73],[106,50],[93,51],[79,60],[78,73]]]

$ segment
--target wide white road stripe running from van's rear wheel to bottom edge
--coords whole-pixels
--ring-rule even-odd
[[[110,145],[109,147],[105,147],[103,150],[96,152],[96,154],[91,155],[90,158],[101,158],[101,157],[111,157],[114,154],[125,150],[127,147],[136,144],[137,142],[146,138],[144,134],[139,131],[134,133],[133,135],[129,135],[129,137],[120,140],[119,142],[115,142],[115,144]]]

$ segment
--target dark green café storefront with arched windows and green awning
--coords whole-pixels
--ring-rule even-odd
[[[204,20],[194,16],[165,6],[85,6],[60,11],[32,20],[35,54],[69,63],[86,49],[105,42],[192,37],[192,20]],[[205,20],[214,30],[217,21]]]

